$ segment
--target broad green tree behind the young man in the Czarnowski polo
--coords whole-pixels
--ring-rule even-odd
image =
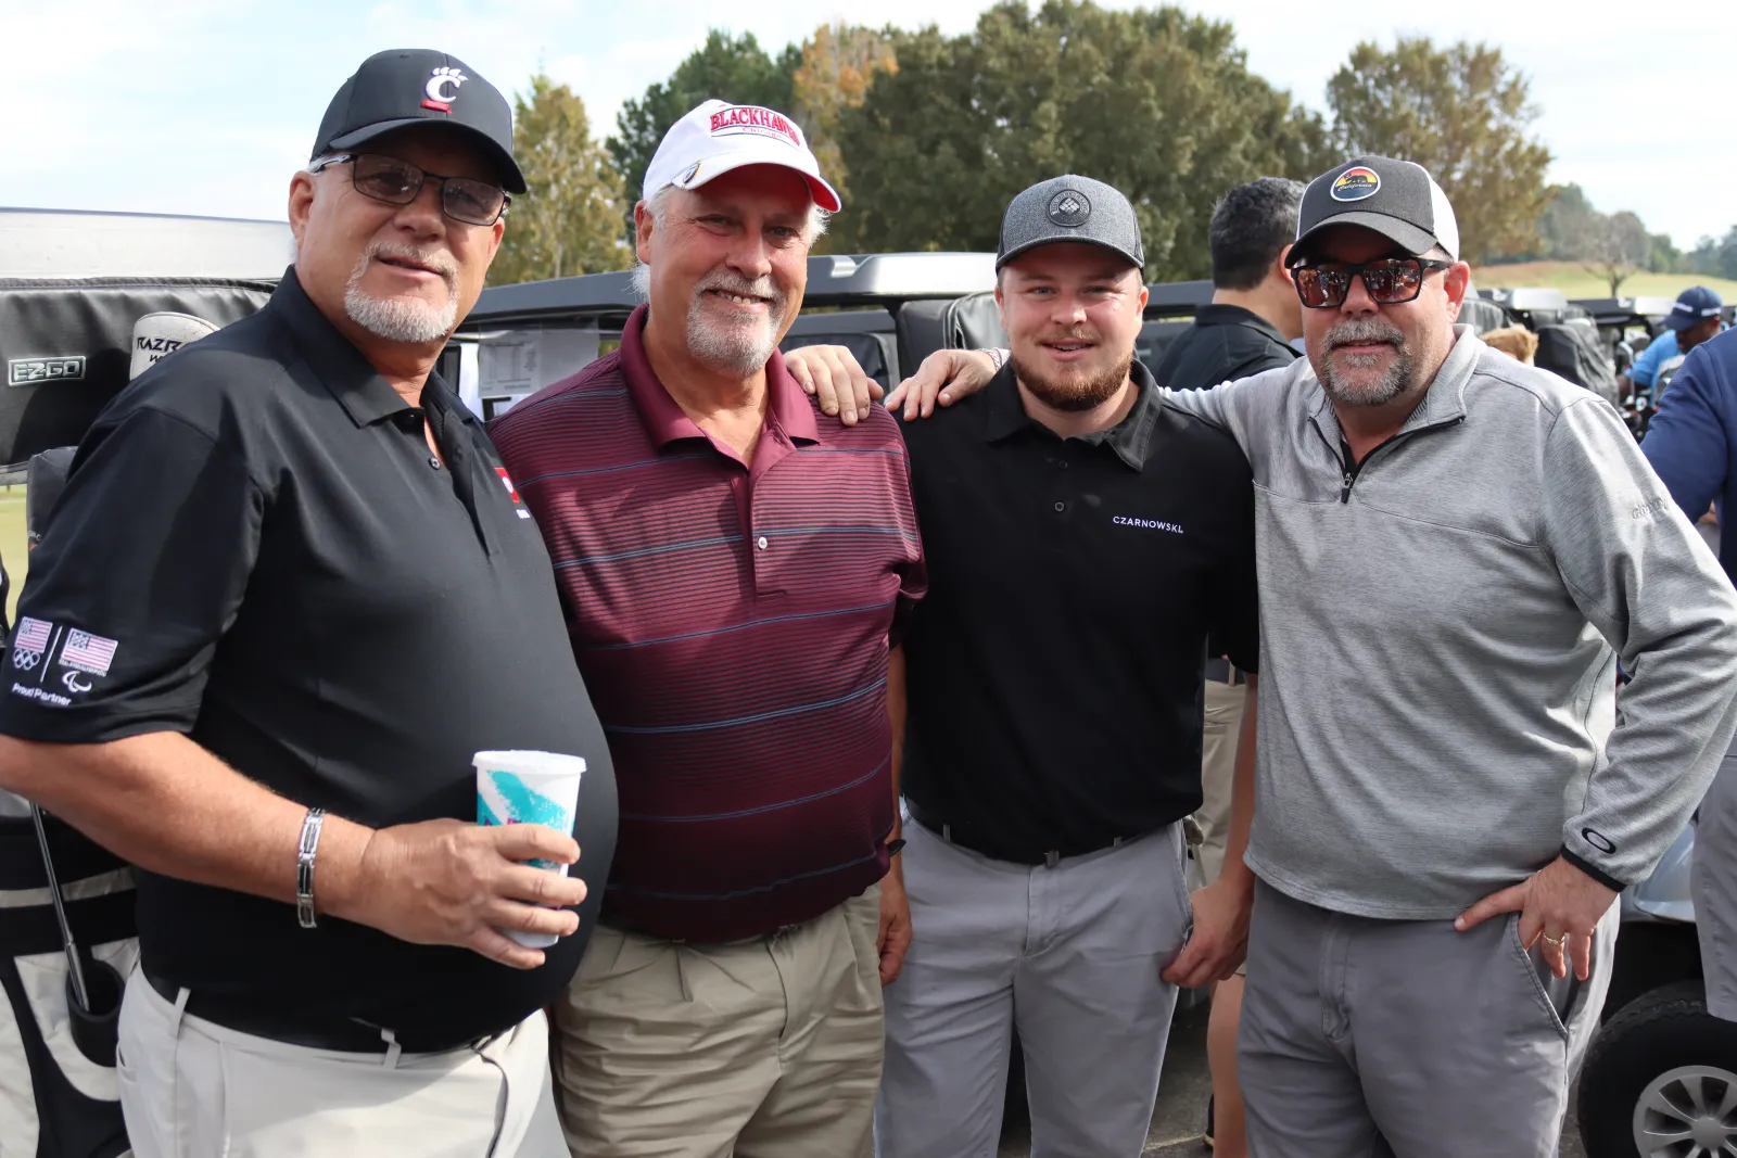
[[[841,250],[994,250],[1020,189],[1065,172],[1134,203],[1148,274],[1202,278],[1232,186],[1325,163],[1320,120],[1249,73],[1230,24],[1176,7],[1007,0],[976,30],[891,33],[896,71],[839,115]]]

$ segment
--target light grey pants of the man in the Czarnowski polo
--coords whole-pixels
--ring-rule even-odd
[[[910,955],[886,990],[881,1158],[994,1158],[1013,1028],[1034,1158],[1134,1158],[1159,1095],[1186,939],[1181,825],[1054,868],[905,821]]]

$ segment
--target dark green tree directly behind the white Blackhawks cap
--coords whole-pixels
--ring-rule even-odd
[[[610,156],[627,184],[627,229],[632,231],[634,201],[644,186],[646,168],[657,155],[664,134],[697,104],[712,97],[731,104],[763,104],[780,113],[792,111],[790,75],[801,64],[802,49],[787,47],[778,59],[761,49],[754,33],[731,36],[712,30],[705,43],[676,66],[670,78],[646,89],[637,101],[622,106],[610,137]]]

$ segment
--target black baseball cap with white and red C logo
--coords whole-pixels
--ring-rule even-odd
[[[493,158],[500,186],[525,193],[525,174],[512,160],[507,99],[459,57],[431,49],[387,49],[363,61],[327,106],[313,156],[353,149],[405,125],[462,128]]]

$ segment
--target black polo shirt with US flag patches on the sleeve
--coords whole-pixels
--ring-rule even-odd
[[[155,974],[267,1012],[360,1017],[406,1049],[552,1000],[615,844],[610,750],[542,535],[438,377],[422,403],[446,467],[424,411],[285,274],[261,313],[141,375],[85,436],[31,554],[0,696],[7,734],[184,733],[297,804],[377,828],[474,821],[478,750],[584,755],[591,899],[537,970],[332,917],[306,931],[290,905],[141,873]]]

